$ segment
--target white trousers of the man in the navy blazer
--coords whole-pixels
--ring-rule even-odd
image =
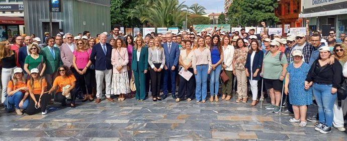
[[[106,70],[95,70],[95,78],[97,80],[97,98],[102,97],[102,85],[105,78],[106,82],[106,94],[105,96],[109,98],[111,96],[111,79],[112,79],[112,69]]]

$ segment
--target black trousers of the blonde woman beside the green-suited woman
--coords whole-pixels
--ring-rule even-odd
[[[161,63],[153,63],[155,68],[160,68]],[[151,82],[151,91],[152,91],[152,97],[156,98],[159,97],[159,92],[160,92],[160,80],[161,80],[161,75],[162,71],[160,72],[154,72],[153,69],[150,69],[150,82]],[[146,82],[147,84],[147,82]]]

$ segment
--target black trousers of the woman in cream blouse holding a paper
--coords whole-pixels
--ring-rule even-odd
[[[189,68],[188,71],[194,74],[193,68]],[[180,75],[178,98],[185,99],[185,94],[187,93],[187,99],[188,98],[194,99],[195,87],[196,87],[196,82],[195,82],[194,75],[189,79],[189,81],[187,81],[185,78],[183,78]]]

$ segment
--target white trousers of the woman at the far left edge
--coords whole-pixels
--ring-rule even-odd
[[[14,75],[14,70],[16,67],[13,68],[3,68],[1,71],[1,82],[3,86],[3,91],[1,95],[1,103],[4,103],[5,101],[5,95],[7,95],[7,85],[9,84],[11,77]]]

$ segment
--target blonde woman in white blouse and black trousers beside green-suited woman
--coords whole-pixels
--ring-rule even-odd
[[[153,40],[150,40],[149,43],[153,42]],[[160,89],[160,80],[161,80],[161,74],[162,74],[162,68],[165,65],[165,53],[164,48],[161,46],[161,39],[160,37],[154,38],[154,46],[148,48],[148,64],[150,65],[151,69],[149,70],[150,73],[150,82],[151,84],[151,90],[152,90],[152,100],[157,101],[161,100],[159,97],[159,89]]]

